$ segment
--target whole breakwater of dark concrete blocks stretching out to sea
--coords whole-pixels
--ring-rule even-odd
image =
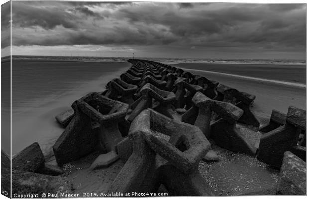
[[[198,171],[199,162],[211,151],[209,140],[277,169],[286,165],[297,172],[289,167],[296,162],[302,168],[304,110],[291,106],[287,115],[275,112],[270,123],[261,127],[251,110],[252,94],[158,62],[128,61],[132,67],[111,80],[106,90],[87,94],[72,104],[73,111],[57,116],[65,127],[53,146],[59,167],[98,151],[101,155],[92,169],[107,167],[118,158],[124,162],[110,192],[157,192],[164,186],[172,196],[217,195]],[[250,131],[238,128],[239,123]],[[26,171],[59,178],[61,183],[48,189],[57,191],[58,185],[65,184],[61,168],[44,163],[38,144],[23,150],[12,164],[16,174]],[[304,191],[299,181],[296,193]],[[13,190],[24,186],[17,184]],[[62,188],[66,190],[71,191]],[[278,188],[278,194],[281,190],[286,191]]]

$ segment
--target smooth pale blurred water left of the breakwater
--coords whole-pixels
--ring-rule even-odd
[[[37,141],[45,155],[63,132],[55,116],[105,89],[130,63],[22,61],[12,65],[12,154]]]

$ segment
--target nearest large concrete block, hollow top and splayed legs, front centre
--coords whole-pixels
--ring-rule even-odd
[[[169,141],[162,136],[163,134],[169,137]],[[152,183],[147,184],[148,189],[144,189],[143,192],[151,190],[150,185],[153,185],[156,190],[158,185],[163,184],[173,196],[207,196],[214,194],[198,172],[200,160],[210,149],[210,143],[198,127],[177,122],[152,109],[147,109],[134,119],[130,127],[129,137],[140,135],[146,140],[149,148],[156,153],[155,164],[153,159],[145,160],[151,165],[156,165],[156,171],[149,170],[148,167],[145,170],[135,171],[137,176],[139,176],[139,172],[149,171],[147,177],[152,179],[149,180]],[[139,168],[140,164],[136,166],[135,162],[130,160],[144,157],[144,155],[138,156],[134,154],[136,150],[134,145],[132,144],[133,152],[124,168],[129,166]],[[148,150],[144,149],[144,151],[145,154],[149,153]],[[122,171],[117,178],[125,179],[128,178],[129,174],[133,175],[132,172],[126,172],[124,175]],[[120,176],[120,174],[122,175]],[[124,181],[118,180],[118,182]],[[144,182],[144,180],[131,181],[130,184],[135,185],[141,182]],[[130,185],[125,187],[130,187]],[[116,189],[112,190],[118,191]]]

